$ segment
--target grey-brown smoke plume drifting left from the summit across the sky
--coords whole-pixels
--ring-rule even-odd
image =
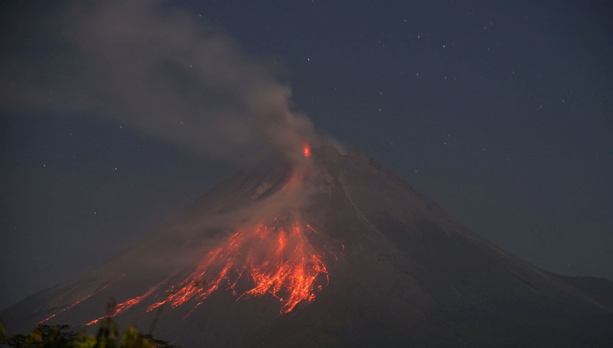
[[[113,118],[231,161],[254,149],[295,161],[314,136],[283,70],[202,18],[155,1],[78,2],[50,17],[36,27],[55,40],[49,56],[2,59],[2,108]]]

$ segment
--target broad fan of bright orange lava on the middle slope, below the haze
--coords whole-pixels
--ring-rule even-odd
[[[327,284],[328,271],[323,255],[308,243],[307,233],[310,230],[299,222],[286,225],[281,219],[236,232],[147,311],[166,303],[176,308],[189,300],[197,301],[196,308],[220,288],[231,290],[233,295],[240,289],[237,301],[270,294],[280,302],[281,314],[292,311],[301,301],[309,303],[316,289],[321,290],[315,284]]]

